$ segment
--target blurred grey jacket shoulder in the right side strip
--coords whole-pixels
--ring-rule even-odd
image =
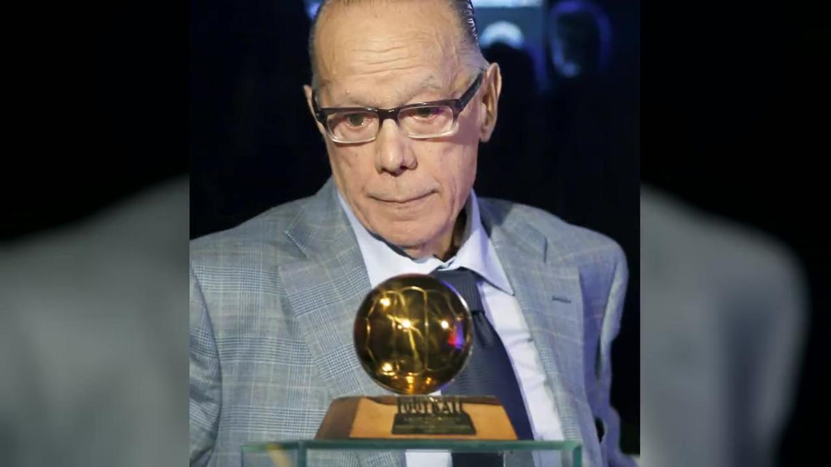
[[[799,261],[649,185],[641,229],[640,465],[779,465],[808,316]]]

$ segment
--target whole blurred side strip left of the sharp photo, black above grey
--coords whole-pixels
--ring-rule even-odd
[[[187,462],[184,8],[10,13],[0,465]]]

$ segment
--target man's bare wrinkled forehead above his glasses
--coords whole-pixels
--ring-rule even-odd
[[[327,12],[315,42],[322,104],[399,106],[450,97],[465,76],[458,28],[441,3],[367,2]]]

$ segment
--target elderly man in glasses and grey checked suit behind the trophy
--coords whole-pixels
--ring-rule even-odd
[[[310,53],[304,91],[332,179],[191,245],[191,464],[239,465],[244,443],[311,438],[335,397],[385,394],[353,350],[355,312],[386,278],[433,273],[486,317],[476,326],[490,343],[477,342],[463,375],[499,396],[520,438],[578,440],[583,465],[632,465],[609,403],[622,250],[542,210],[476,197],[502,77],[479,51],[470,2],[323,2]]]

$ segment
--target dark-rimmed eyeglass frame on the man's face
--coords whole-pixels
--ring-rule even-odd
[[[450,109],[453,110],[453,128],[457,128],[457,123],[459,120],[459,114],[465,110],[465,107],[470,103],[470,100],[473,99],[473,96],[476,95],[476,92],[479,91],[479,86],[481,86],[482,81],[484,81],[484,71],[481,71],[477,76],[476,79],[470,83],[470,87],[468,87],[467,91],[462,93],[462,95],[458,99],[443,99],[441,101],[429,101],[429,102],[418,102],[416,104],[406,104],[405,106],[398,106],[392,109],[379,109],[376,107],[319,107],[317,106],[317,91],[312,91],[312,111],[314,111],[315,120],[319,121],[324,128],[326,128],[327,135],[329,138],[335,142],[342,142],[337,140],[335,135],[332,135],[332,130],[329,128],[327,124],[328,116],[335,114],[337,112],[344,112],[344,111],[362,111],[362,112],[374,112],[378,116],[378,131],[381,131],[381,127],[384,125],[384,120],[392,119],[398,123],[398,116],[401,114],[401,111],[409,111],[411,109],[418,109],[420,107],[433,107],[433,106],[448,106]],[[452,133],[449,133],[452,134]],[[375,136],[372,137],[371,140],[361,140],[357,141],[356,143],[348,143],[344,142],[344,144],[357,144],[357,143],[368,143],[372,140],[375,140],[377,137],[377,133]],[[426,139],[426,138],[436,138],[440,135],[427,135],[427,136],[412,136],[411,138],[414,139]],[[446,136],[446,135],[445,135]]]

